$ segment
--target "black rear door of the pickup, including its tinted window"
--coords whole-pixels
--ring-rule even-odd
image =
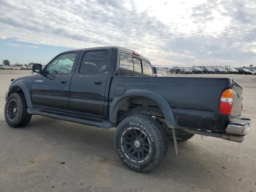
[[[81,53],[70,84],[69,108],[75,112],[102,115],[110,71],[112,48],[97,48]],[[106,106],[105,106],[106,107]]]

